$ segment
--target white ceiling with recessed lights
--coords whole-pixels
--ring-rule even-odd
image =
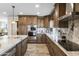
[[[36,4],[39,5],[39,8],[35,7]],[[40,12],[38,16],[45,16],[54,9],[54,3],[0,3],[0,15],[13,15],[12,5],[15,6],[15,16],[20,15],[20,12],[23,12],[22,15],[37,15],[37,12]]]

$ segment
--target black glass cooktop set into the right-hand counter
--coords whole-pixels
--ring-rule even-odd
[[[67,51],[79,51],[79,45],[69,40],[59,40],[58,43]]]

